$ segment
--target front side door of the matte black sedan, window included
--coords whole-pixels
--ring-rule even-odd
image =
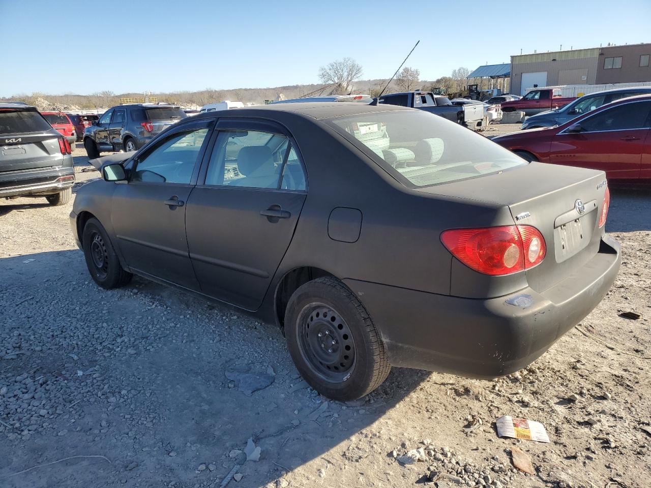
[[[214,121],[183,124],[137,153],[128,183],[113,193],[111,220],[126,264],[190,290],[199,283],[186,239],[186,202],[197,182]]]

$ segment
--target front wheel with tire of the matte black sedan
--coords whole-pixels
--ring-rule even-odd
[[[130,282],[133,275],[122,269],[108,234],[100,221],[91,218],[83,228],[83,253],[90,276],[106,290]]]

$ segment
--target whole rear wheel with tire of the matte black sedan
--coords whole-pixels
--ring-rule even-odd
[[[328,398],[361,398],[378,388],[391,371],[366,309],[336,278],[317,278],[294,291],[284,323],[296,368]]]

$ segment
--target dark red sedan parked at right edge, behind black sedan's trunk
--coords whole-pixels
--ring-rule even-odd
[[[493,141],[527,161],[600,169],[614,182],[651,183],[651,95],[622,98],[561,126]]]

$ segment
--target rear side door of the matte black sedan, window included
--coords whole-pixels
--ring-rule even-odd
[[[220,120],[214,139],[187,202],[190,258],[203,293],[256,310],[294,235],[305,170],[291,135],[270,122]]]

